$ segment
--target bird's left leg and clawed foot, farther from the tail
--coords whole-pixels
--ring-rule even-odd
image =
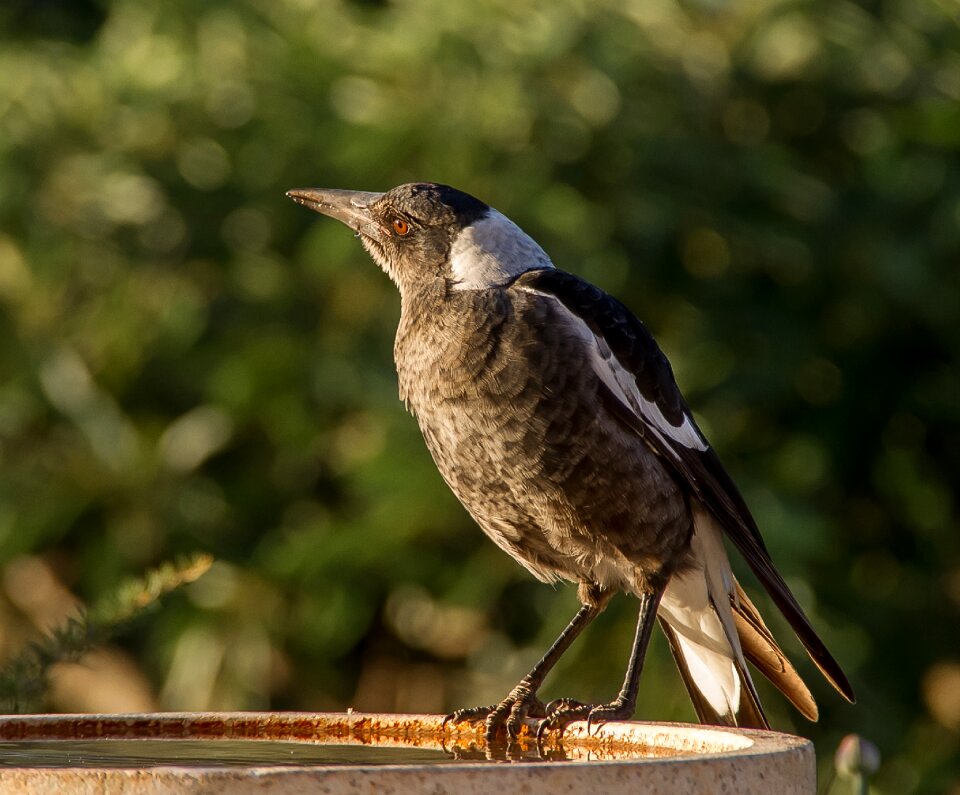
[[[508,739],[516,738],[520,734],[523,721],[528,715],[545,718],[547,715],[546,709],[540,699],[537,698],[537,690],[540,689],[543,680],[546,679],[547,674],[557,664],[570,644],[576,640],[577,636],[593,619],[603,612],[603,608],[606,607],[612,595],[610,591],[605,591],[599,586],[589,583],[581,583],[578,593],[583,603],[580,610],[577,611],[577,614],[560,633],[560,636],[553,642],[553,645],[547,649],[540,662],[533,666],[530,673],[519,681],[503,701],[486,707],[458,709],[443,719],[443,725],[445,726],[448,722],[459,723],[464,720],[484,720],[486,724],[484,735],[487,742],[491,743],[496,739],[497,733],[501,729],[506,730]]]

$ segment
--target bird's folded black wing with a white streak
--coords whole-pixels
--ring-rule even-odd
[[[853,701],[850,683],[774,568],[740,491],[697,428],[667,357],[643,323],[603,290],[561,270],[527,271],[512,287],[556,299],[574,323],[585,326],[596,338],[594,365],[602,398],[716,516],[814,663]]]

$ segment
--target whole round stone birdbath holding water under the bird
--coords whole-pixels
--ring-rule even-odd
[[[0,790],[29,793],[736,792],[811,795],[813,746],[681,723],[567,727],[509,748],[437,715],[155,713],[0,717]]]

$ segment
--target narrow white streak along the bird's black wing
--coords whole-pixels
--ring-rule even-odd
[[[565,312],[568,322],[574,325],[580,336],[590,346],[590,359],[594,372],[623,405],[633,410],[644,426],[659,436],[665,444],[667,439],[670,439],[693,450],[703,451],[707,449],[706,440],[700,435],[690,417],[684,414],[683,422],[680,425],[673,425],[663,416],[660,407],[653,401],[647,400],[640,393],[636,377],[614,356],[606,340],[594,334],[581,318],[567,309],[555,296],[541,293],[538,290],[524,289],[544,298],[551,298],[559,304]],[[669,448],[670,445],[667,444],[667,447]]]

